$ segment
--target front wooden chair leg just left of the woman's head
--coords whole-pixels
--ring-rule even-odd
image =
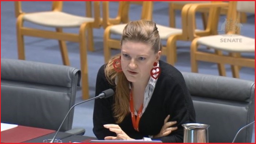
[[[104,50],[105,63],[107,63],[111,57],[111,48],[109,48],[109,45],[108,45],[109,38],[110,38],[110,27],[107,27],[104,31],[104,36],[103,36],[103,50]]]

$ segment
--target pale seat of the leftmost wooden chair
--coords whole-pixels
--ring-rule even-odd
[[[60,11],[26,14],[23,20],[48,27],[80,27],[84,22],[94,22],[94,18],[67,14]]]

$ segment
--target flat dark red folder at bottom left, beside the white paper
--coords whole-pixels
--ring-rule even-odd
[[[15,128],[2,131],[1,143],[21,143],[53,132],[55,130],[19,125]]]

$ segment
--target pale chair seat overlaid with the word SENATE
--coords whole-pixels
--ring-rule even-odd
[[[236,34],[200,37],[197,44],[227,52],[255,52],[254,38]]]

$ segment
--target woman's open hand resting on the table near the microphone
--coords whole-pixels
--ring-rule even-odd
[[[105,128],[109,129],[111,132],[116,133],[115,136],[106,136],[104,139],[105,140],[134,140],[131,137],[129,137],[121,128],[119,125],[115,124],[106,124],[103,125]]]

